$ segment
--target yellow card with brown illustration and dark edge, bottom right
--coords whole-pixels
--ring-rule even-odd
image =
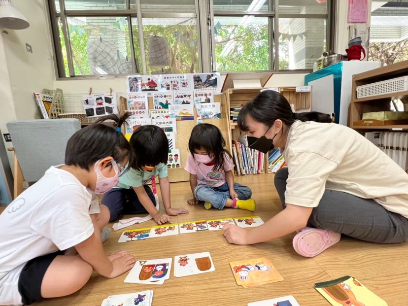
[[[314,284],[314,288],[333,306],[387,305],[384,300],[376,296],[361,282],[348,275]]]

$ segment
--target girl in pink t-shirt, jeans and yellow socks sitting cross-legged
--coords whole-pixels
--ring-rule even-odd
[[[203,123],[194,127],[188,148],[191,154],[184,169],[190,172],[190,187],[194,196],[187,201],[188,204],[204,202],[205,209],[213,206],[218,209],[233,207],[255,210],[251,189],[234,183],[234,164],[216,126]]]

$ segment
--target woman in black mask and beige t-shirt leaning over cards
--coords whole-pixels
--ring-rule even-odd
[[[408,174],[364,136],[326,114],[293,113],[285,97],[269,90],[242,107],[238,126],[250,148],[283,150],[287,167],[274,178],[283,210],[250,230],[225,225],[228,242],[254,244],[297,232],[295,251],[313,257],[341,234],[407,241]]]

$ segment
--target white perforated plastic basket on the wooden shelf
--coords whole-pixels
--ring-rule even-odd
[[[357,99],[408,91],[408,76],[357,86]]]

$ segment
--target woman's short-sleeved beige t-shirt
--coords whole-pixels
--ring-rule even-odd
[[[350,128],[295,121],[283,156],[289,171],[287,204],[316,207],[330,189],[373,199],[408,218],[408,174]]]

